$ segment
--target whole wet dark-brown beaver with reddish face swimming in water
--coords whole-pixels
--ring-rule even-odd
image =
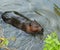
[[[4,22],[25,31],[28,34],[43,35],[44,29],[36,20],[30,20],[16,11],[6,11],[1,15]]]

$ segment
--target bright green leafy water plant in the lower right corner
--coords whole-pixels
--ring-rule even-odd
[[[55,32],[47,35],[47,38],[44,40],[44,49],[43,50],[60,50],[60,41]]]

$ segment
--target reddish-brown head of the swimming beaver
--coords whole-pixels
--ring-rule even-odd
[[[32,34],[43,34],[43,28],[35,20],[26,25],[26,31]]]

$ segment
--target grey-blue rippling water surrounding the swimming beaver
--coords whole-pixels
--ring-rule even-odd
[[[1,0],[0,11],[17,11],[30,18],[36,20],[44,28],[44,37],[47,34],[56,31],[60,39],[60,15],[54,10],[54,4],[59,8],[60,0]],[[37,11],[38,13],[36,13]],[[43,41],[39,36],[33,37],[15,27],[6,24],[0,17],[0,25],[4,29],[6,38],[16,37],[16,41],[9,40],[8,47],[12,50],[43,50]]]

